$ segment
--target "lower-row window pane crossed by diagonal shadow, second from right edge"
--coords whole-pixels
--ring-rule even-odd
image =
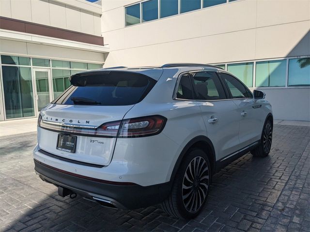
[[[256,87],[285,86],[286,59],[256,62]]]

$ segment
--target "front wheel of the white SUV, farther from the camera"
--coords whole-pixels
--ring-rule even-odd
[[[272,143],[272,123],[268,119],[263,127],[262,137],[260,144],[251,151],[254,157],[267,157],[271,150]]]

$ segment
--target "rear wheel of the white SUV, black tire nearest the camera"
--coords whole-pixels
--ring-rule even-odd
[[[182,160],[171,193],[162,203],[162,208],[173,217],[197,217],[206,202],[210,183],[211,168],[207,155],[199,148],[190,149]]]

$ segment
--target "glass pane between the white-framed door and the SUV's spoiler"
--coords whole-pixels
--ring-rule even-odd
[[[54,99],[58,98],[62,92],[70,86],[69,76],[70,70],[52,69]]]

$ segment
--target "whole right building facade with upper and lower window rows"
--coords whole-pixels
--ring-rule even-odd
[[[103,0],[105,67],[217,64],[310,121],[310,0]]]

